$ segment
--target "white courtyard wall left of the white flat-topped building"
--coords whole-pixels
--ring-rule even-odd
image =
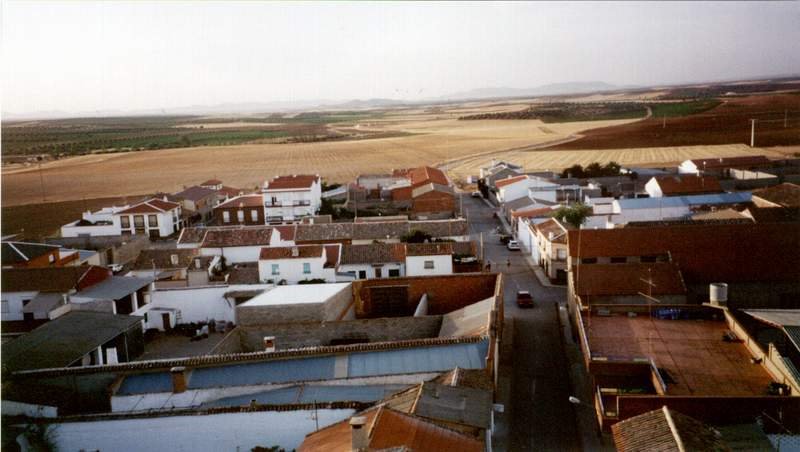
[[[233,301],[225,293],[234,290],[270,289],[272,284],[234,284],[207,287],[158,289],[151,294],[150,309],[173,308],[181,311],[181,323],[204,322],[209,319],[233,322],[236,318]]]

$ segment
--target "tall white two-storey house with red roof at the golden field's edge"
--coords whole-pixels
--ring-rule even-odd
[[[295,221],[319,212],[322,182],[319,176],[280,176],[264,184],[262,195],[267,222]]]

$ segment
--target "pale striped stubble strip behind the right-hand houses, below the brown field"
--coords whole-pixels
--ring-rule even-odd
[[[550,125],[548,125],[549,127]],[[477,174],[482,166],[493,159],[507,160],[522,165],[527,171],[561,170],[574,164],[586,166],[592,162],[607,163],[615,161],[628,166],[674,166],[687,159],[705,157],[740,157],[746,155],[765,155],[768,158],[786,158],[800,152],[800,146],[775,148],[751,148],[744,144],[724,144],[709,146],[675,146],[660,148],[630,148],[602,150],[531,150],[510,151],[493,155],[469,157],[452,162],[450,174],[463,178]]]

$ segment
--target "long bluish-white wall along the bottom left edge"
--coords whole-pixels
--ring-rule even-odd
[[[249,451],[256,446],[296,449],[319,427],[347,419],[352,409],[256,411],[203,416],[51,424],[58,450]],[[317,421],[313,416],[316,414]]]

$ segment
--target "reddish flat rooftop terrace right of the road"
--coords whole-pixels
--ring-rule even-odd
[[[722,320],[660,320],[621,313],[584,316],[583,323],[593,358],[652,358],[668,374],[662,371],[667,395],[759,396],[773,381],[761,365],[750,362],[743,343],[722,339],[728,331]]]

